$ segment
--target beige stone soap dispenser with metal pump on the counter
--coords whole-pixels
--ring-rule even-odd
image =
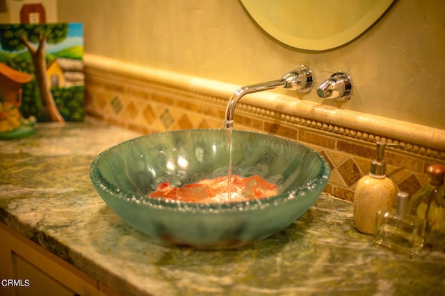
[[[364,234],[375,233],[378,210],[396,208],[396,184],[387,177],[387,164],[383,160],[387,143],[378,141],[376,144],[377,157],[371,162],[369,175],[359,180],[354,193],[354,227]]]

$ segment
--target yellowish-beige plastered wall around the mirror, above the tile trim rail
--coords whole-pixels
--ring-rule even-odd
[[[316,86],[350,73],[355,92],[337,105],[445,129],[445,2],[398,0],[364,35],[307,52],[272,40],[238,0],[58,0],[59,21],[81,21],[87,53],[236,85],[281,78],[297,64]],[[304,20],[304,15],[300,15]],[[310,20],[307,20],[310,26]]]

